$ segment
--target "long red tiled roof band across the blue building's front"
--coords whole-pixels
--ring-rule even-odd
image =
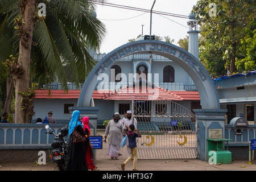
[[[129,89],[121,89],[117,92],[111,90],[94,90],[92,97],[94,99],[100,100],[132,100],[136,96],[144,96],[145,100],[173,100],[173,101],[183,101],[183,100],[199,100],[200,96],[197,91],[168,91],[166,89],[157,88],[158,90],[152,89],[152,92],[148,92],[146,89],[139,89],[137,92]],[[36,98],[46,98],[46,99],[77,99],[79,98],[81,90],[36,90]]]

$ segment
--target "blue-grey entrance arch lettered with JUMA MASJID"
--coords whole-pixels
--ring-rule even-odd
[[[180,65],[193,79],[199,91],[202,109],[220,109],[217,90],[203,64],[195,56],[173,44],[158,40],[141,40],[124,44],[108,53],[93,68],[82,87],[77,107],[89,107],[93,90],[100,80],[97,76],[112,67],[118,59],[135,53],[152,53],[167,57]]]

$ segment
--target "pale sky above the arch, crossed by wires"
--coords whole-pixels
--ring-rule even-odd
[[[154,0],[107,0],[106,2],[150,10]],[[156,0],[153,10],[189,15],[192,7],[196,5],[196,2],[197,0]],[[150,13],[119,9],[117,7],[104,5],[96,5],[96,13],[97,18],[100,19],[106,27],[106,36],[100,47],[101,53],[109,53],[113,51],[113,49],[126,44],[129,39],[137,38],[137,36],[142,33],[142,24],[144,24],[143,34],[150,35]],[[137,17],[133,18],[134,16]],[[174,44],[179,46],[179,44],[177,44],[179,39],[183,39],[188,35],[188,19],[177,18],[174,16],[166,17],[168,19],[158,14],[152,14],[151,34],[162,37],[169,36],[171,39],[174,39]],[[172,22],[169,19],[179,22],[180,24],[183,24],[183,26]]]

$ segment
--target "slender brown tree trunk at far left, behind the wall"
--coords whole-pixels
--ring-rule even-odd
[[[6,100],[3,106],[3,113],[11,113],[11,100],[13,96],[14,82],[13,77],[6,77]]]

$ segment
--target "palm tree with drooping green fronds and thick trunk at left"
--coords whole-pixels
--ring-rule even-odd
[[[47,7],[45,18],[35,14],[38,11],[35,0],[0,3],[0,14],[6,18],[3,27],[16,28],[19,35],[18,44],[14,43],[19,48],[18,59],[10,62],[14,70],[9,67],[15,85],[15,123],[25,123],[31,118],[30,111],[22,105],[28,93],[29,76],[51,82],[56,75],[62,88],[68,90],[66,67],[71,80],[79,85],[94,67],[89,48],[98,49],[105,35],[105,26],[94,15],[95,7],[89,1],[41,2]],[[0,31],[1,36],[5,34]]]

